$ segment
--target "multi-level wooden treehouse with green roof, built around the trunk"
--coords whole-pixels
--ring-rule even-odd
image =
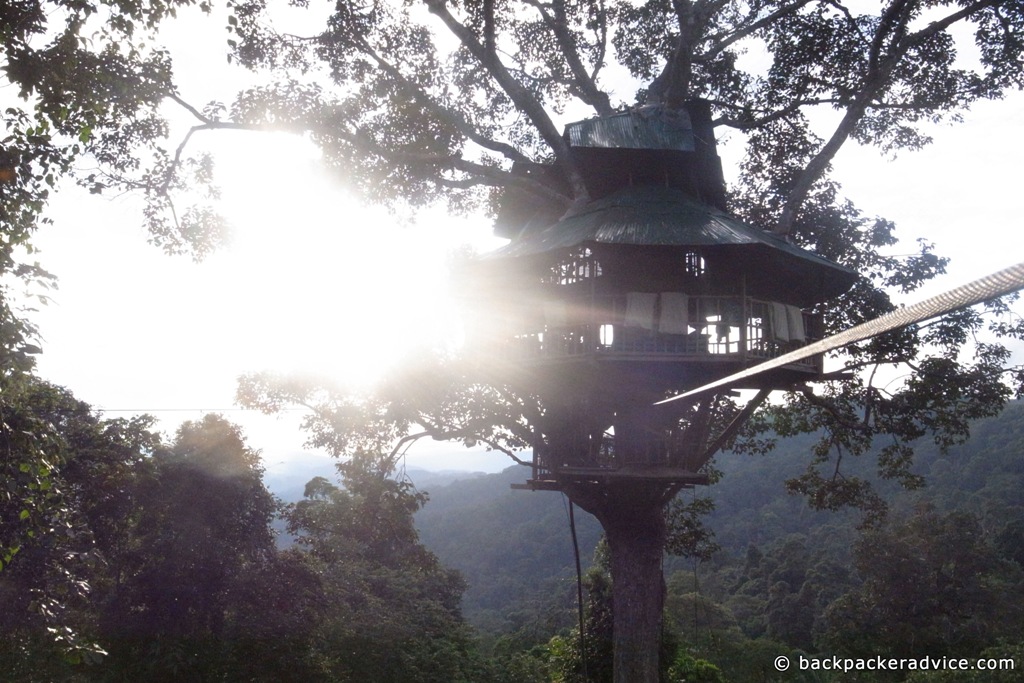
[[[499,381],[540,397],[535,487],[573,477],[702,480],[694,420],[651,404],[822,335],[814,307],[856,273],[725,211],[705,102],[570,124],[591,202],[566,215],[509,191],[497,232],[510,243],[477,266],[473,343]],[[553,166],[520,166],[564,183]],[[564,212],[563,212],[564,213]],[[820,356],[735,388],[785,388]],[[706,422],[711,420],[707,418]],[[686,432],[686,433],[683,433]]]

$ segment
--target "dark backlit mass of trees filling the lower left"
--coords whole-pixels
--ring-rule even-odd
[[[345,488],[312,480],[287,511],[300,544],[278,552],[259,454],[223,418],[164,444],[41,382],[8,424],[28,417],[59,446],[53,526],[28,527],[0,573],[6,679],[514,680],[475,653],[461,578],[418,541],[425,496],[377,459],[349,463]],[[23,502],[2,500],[6,532]]]

